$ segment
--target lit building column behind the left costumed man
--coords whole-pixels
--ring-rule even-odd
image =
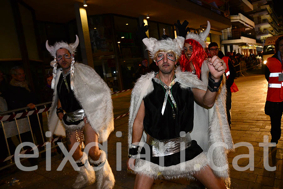
[[[83,63],[94,68],[86,9],[82,3],[75,3],[76,22],[80,39],[80,51]]]

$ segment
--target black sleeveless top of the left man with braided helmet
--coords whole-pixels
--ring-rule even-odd
[[[57,84],[57,94],[61,102],[62,108],[66,113],[73,112],[82,109],[79,102],[75,98],[74,92],[71,89],[70,74],[66,76],[69,91],[63,80],[63,74],[61,73],[58,84]],[[62,83],[62,84],[61,84]],[[61,89],[60,89],[61,87]]]

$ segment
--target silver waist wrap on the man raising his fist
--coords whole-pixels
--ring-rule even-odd
[[[152,146],[153,157],[171,155],[190,147],[191,135],[187,132],[185,137],[158,140],[147,134],[147,144]]]

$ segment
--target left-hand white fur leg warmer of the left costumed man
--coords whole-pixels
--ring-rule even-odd
[[[95,182],[95,172],[92,170],[92,166],[88,162],[88,156],[85,152],[76,163],[83,163],[84,165],[79,167],[79,175],[73,184],[74,188],[82,188],[91,185]]]

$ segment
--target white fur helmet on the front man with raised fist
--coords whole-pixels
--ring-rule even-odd
[[[147,47],[147,50],[150,52],[151,58],[154,58],[156,53],[163,51],[173,51],[176,58],[181,56],[182,48],[184,46],[185,39],[183,37],[177,37],[176,39],[163,39],[157,40],[155,38],[144,38],[142,42]]]

